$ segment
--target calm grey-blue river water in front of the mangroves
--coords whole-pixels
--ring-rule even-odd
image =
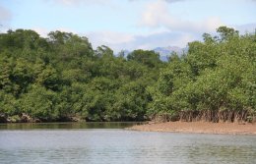
[[[12,131],[1,125],[0,163],[256,163],[256,136],[134,132],[120,129],[130,124],[117,123],[94,129],[88,129],[92,125],[46,125],[25,130],[14,126]]]

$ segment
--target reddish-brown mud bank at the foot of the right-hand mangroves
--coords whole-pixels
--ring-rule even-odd
[[[194,134],[256,135],[256,124],[208,123],[208,122],[167,122],[137,125],[128,130],[144,132],[174,132]]]

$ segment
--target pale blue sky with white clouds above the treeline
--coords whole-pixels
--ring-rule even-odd
[[[256,0],[0,0],[0,32],[74,32],[114,52],[182,48],[220,26],[253,32]]]

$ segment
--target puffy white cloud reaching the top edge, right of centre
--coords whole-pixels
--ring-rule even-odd
[[[182,20],[170,15],[166,1],[158,0],[149,3],[140,20],[142,27],[166,27],[173,31],[214,31],[217,27],[223,26],[220,18],[208,18],[200,22]]]

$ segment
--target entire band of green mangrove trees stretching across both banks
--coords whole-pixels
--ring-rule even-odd
[[[253,121],[256,35],[218,32],[167,63],[154,51],[94,50],[73,33],[1,33],[0,121]]]

